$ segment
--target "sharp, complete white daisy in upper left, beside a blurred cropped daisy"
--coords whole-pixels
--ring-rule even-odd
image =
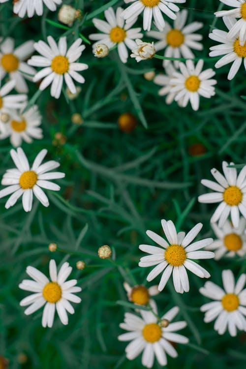
[[[76,87],[72,78],[79,83],[84,83],[85,78],[77,71],[88,68],[87,64],[75,62],[85,49],[85,46],[81,45],[82,39],[78,38],[74,41],[68,50],[66,37],[61,37],[58,45],[52,36],[48,36],[47,40],[49,45],[44,41],[34,43],[35,50],[42,56],[32,56],[28,64],[44,68],[35,74],[33,82],[45,77],[39,86],[39,90],[43,91],[52,83],[51,96],[59,98],[64,77],[70,92],[75,93]]]

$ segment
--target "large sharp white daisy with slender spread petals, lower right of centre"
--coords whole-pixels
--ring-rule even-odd
[[[186,236],[184,232],[179,232],[177,234],[172,220],[166,221],[162,219],[161,225],[168,242],[156,233],[149,230],[146,231],[147,236],[161,247],[140,245],[140,250],[151,255],[142,257],[138,265],[144,268],[156,265],[156,267],[154,267],[147,276],[147,280],[149,282],[163,272],[158,285],[159,291],[163,290],[169,277],[173,274],[175,290],[179,293],[188,292],[189,280],[186,269],[198,277],[210,277],[210,274],[199,264],[195,263],[193,259],[213,258],[215,256],[214,252],[200,250],[204,246],[210,245],[213,242],[213,239],[206,238],[204,240],[191,243],[202,229],[202,223],[196,224]]]

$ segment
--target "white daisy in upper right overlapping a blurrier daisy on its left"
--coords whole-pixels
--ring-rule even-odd
[[[196,66],[191,60],[186,63],[180,63],[180,73],[174,72],[170,83],[173,85],[171,92],[175,92],[175,101],[182,99],[182,106],[185,107],[190,101],[193,110],[199,108],[199,96],[210,98],[215,95],[214,85],[217,83],[215,79],[211,79],[215,75],[213,69],[203,68],[203,60],[200,59]]]

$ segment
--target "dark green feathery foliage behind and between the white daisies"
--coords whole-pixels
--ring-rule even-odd
[[[56,40],[67,35],[71,43],[79,32],[86,38],[95,32],[92,18],[103,19],[103,10],[110,5],[125,7],[123,1],[117,0],[63,2],[82,9],[84,15],[68,30],[58,23],[58,11],[46,9],[42,17],[22,21],[12,14],[10,1],[1,4],[1,36],[12,36],[20,45],[28,39],[46,40],[49,34]],[[204,50],[196,52],[196,57],[205,59],[205,67],[214,67],[215,61],[208,58],[208,52],[215,43],[209,40],[208,33],[214,27],[225,29],[222,20],[213,14],[221,3],[187,0],[181,5],[181,9],[189,10],[188,22],[204,23]],[[141,24],[140,16],[137,25]],[[24,213],[20,201],[5,210],[6,199],[0,199],[0,354],[9,359],[11,369],[141,368],[141,357],[126,360],[126,343],[117,340],[123,333],[119,324],[124,311],[129,310],[117,302],[127,302],[124,280],[132,285],[146,284],[148,270],[138,267],[143,256],[138,245],[150,242],[146,229],[162,234],[160,219],[165,218],[187,232],[201,221],[204,227],[200,237],[212,236],[209,219],[215,207],[197,202],[198,194],[205,191],[200,180],[211,179],[210,169],[220,169],[222,160],[245,162],[243,67],[231,82],[227,80],[229,66],[216,70],[215,97],[201,98],[199,111],[193,112],[190,106],[182,109],[175,102],[166,105],[164,98],[157,95],[159,87],[144,79],[146,71],[163,70],[161,60],[136,63],[129,59],[123,65],[115,50],[108,58],[98,60],[91,46],[86,46],[81,61],[88,63],[89,69],[83,73],[86,83],[76,100],[67,101],[63,94],[55,100],[49,89],[37,97],[37,86],[29,83],[29,97],[37,97],[43,116],[44,139],[22,147],[30,161],[47,148],[48,157],[61,162],[61,171],[66,173],[65,179],[58,181],[62,190],[48,192],[49,208],[34,202],[29,214]],[[138,126],[131,134],[118,128],[117,119],[123,112],[138,118]],[[82,115],[82,125],[71,123],[73,113]],[[67,137],[64,145],[52,144],[56,132]],[[202,143],[206,153],[191,156],[188,148],[194,143]],[[13,167],[10,149],[8,140],[1,141],[1,177]],[[48,250],[51,242],[59,246],[55,253]],[[113,248],[115,264],[98,258],[97,249],[104,244]],[[18,284],[27,277],[28,265],[48,273],[51,258],[58,264],[68,260],[73,266],[71,276],[83,288],[79,294],[82,303],[75,306],[74,315],[69,315],[68,326],[62,326],[56,315],[53,328],[44,329],[42,310],[24,315],[19,301],[28,293]],[[81,259],[87,265],[83,271],[76,269]],[[202,265],[218,284],[223,269],[232,269],[238,275],[245,272],[246,266],[242,259],[204,260]],[[208,300],[198,288],[204,280],[188,275],[189,293],[177,294],[170,282],[155,298],[160,313],[178,305],[177,319],[188,323],[182,333],[190,343],[178,345],[179,356],[168,357],[168,368],[245,368],[246,334],[231,338],[226,333],[220,337],[213,323],[203,322],[199,308]],[[158,278],[151,284],[157,284]],[[27,357],[24,364],[20,363],[21,353]],[[155,362],[154,369],[157,368],[160,366]]]

